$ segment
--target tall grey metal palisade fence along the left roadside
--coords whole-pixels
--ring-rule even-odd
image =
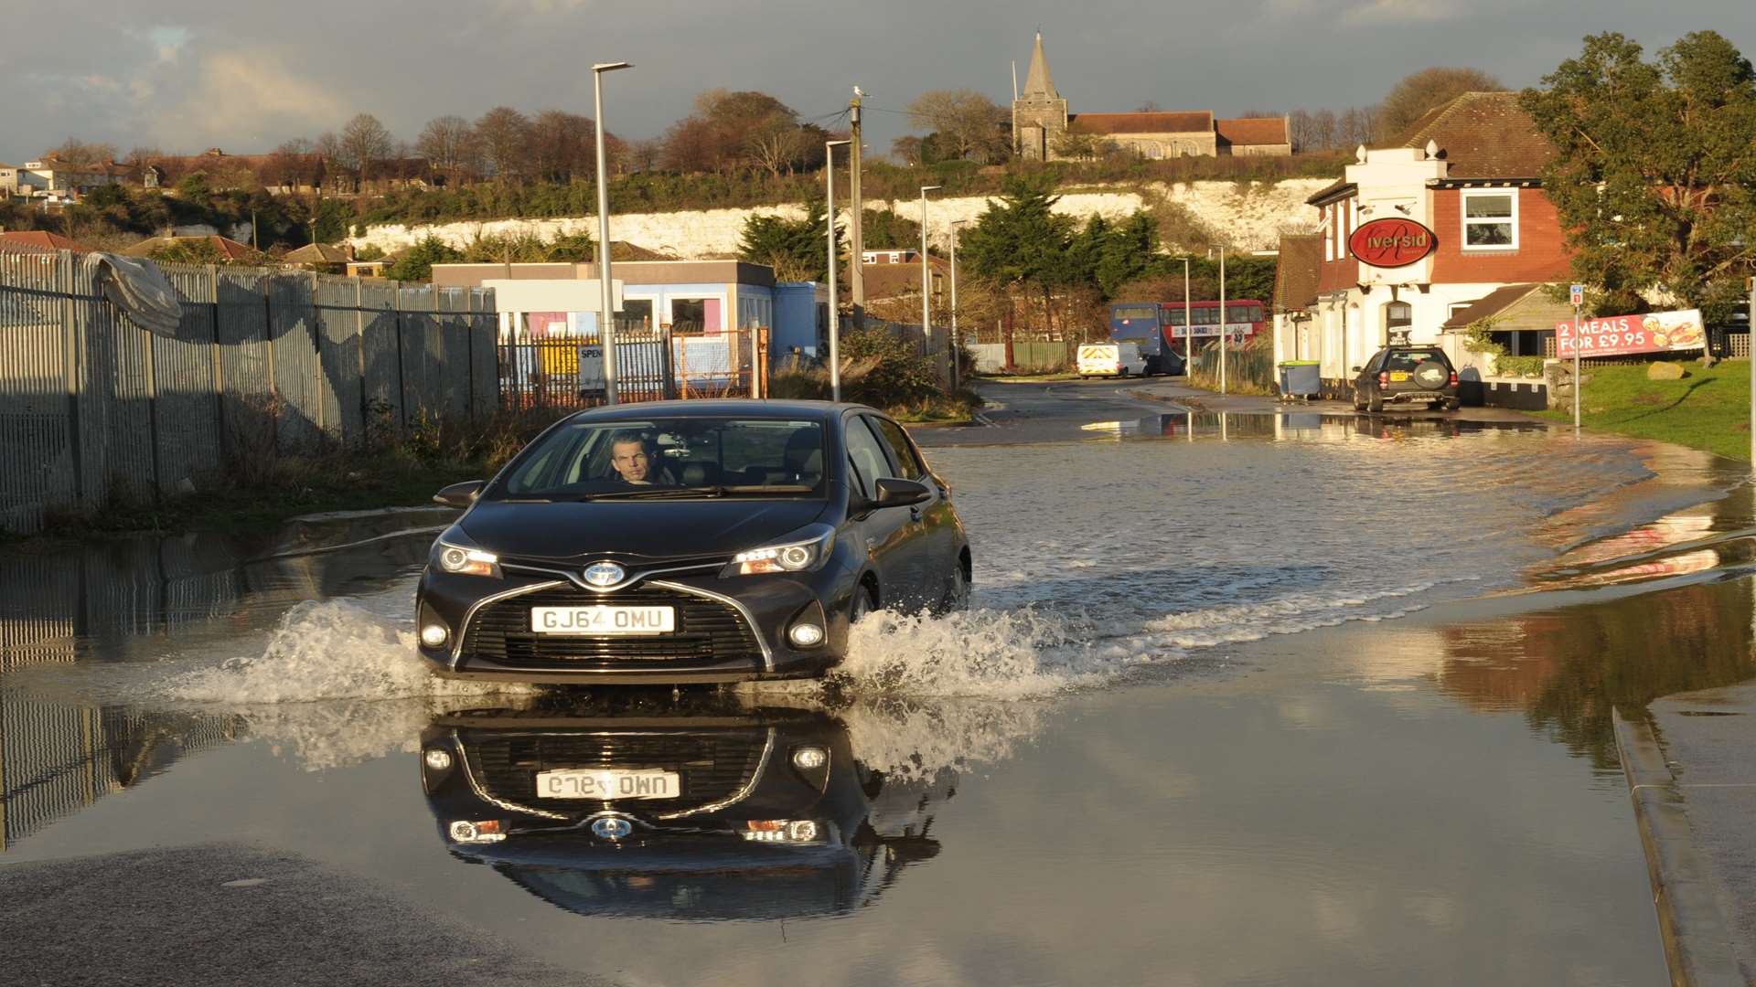
[[[499,406],[492,292],[162,270],[183,302],[176,335],[104,299],[91,255],[0,251],[0,529]]]

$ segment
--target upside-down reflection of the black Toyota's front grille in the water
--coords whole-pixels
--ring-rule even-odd
[[[676,815],[736,797],[762,767],[767,727],[713,732],[529,732],[458,734],[464,757],[481,789],[504,803],[564,815],[602,810],[601,799],[546,799],[537,796],[537,773],[569,767],[662,767],[680,774],[676,799],[618,803],[657,815]]]

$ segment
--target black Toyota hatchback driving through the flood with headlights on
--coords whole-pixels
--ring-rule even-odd
[[[572,414],[492,481],[421,574],[420,653],[458,678],[822,674],[878,608],[959,609],[952,492],[871,407],[722,400]]]

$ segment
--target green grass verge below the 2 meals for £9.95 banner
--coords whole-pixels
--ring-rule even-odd
[[[1587,367],[1582,425],[1637,439],[1658,439],[1728,458],[1751,458],[1751,364],[1684,364],[1680,381],[1649,381],[1647,365]],[[1572,411],[1538,411],[1572,421]]]

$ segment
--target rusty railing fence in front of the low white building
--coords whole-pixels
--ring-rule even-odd
[[[767,328],[618,330],[616,399],[762,397]],[[500,404],[592,407],[604,402],[604,349],[595,334],[500,346]]]

